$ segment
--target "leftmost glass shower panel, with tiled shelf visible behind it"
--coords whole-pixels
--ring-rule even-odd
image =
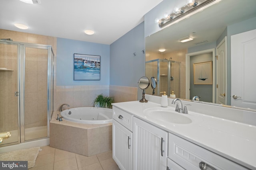
[[[20,141],[18,49],[18,44],[0,42],[0,133],[11,133],[0,146]]]

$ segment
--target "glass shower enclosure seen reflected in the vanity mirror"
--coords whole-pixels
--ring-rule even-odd
[[[180,97],[180,80],[181,80],[181,63],[167,59],[155,59],[146,61],[146,77],[149,79],[155,77],[157,86],[155,95],[160,96],[160,92],[166,92],[170,96],[172,91],[176,98]],[[152,94],[150,89],[146,90],[146,94]]]

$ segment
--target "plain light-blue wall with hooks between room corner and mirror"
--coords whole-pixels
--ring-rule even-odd
[[[145,76],[144,49],[144,22],[110,45],[110,85],[138,87]]]

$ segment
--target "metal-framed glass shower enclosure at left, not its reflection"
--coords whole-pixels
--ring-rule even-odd
[[[49,137],[53,63],[50,45],[0,40],[0,147]]]

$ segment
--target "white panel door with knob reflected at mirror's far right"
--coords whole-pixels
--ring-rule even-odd
[[[231,36],[231,105],[256,109],[256,29]]]

